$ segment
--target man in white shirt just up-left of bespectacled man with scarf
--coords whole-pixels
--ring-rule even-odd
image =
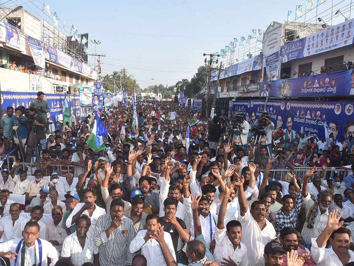
[[[13,239],[18,225],[24,220],[20,215],[21,205],[19,203],[12,203],[10,206],[10,216],[2,217],[0,220],[0,242],[4,243]]]

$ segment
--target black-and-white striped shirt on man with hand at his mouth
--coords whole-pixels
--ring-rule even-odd
[[[96,223],[93,243],[99,248],[99,264],[107,266],[131,265],[134,253],[129,252],[129,245],[134,239],[133,221],[123,216],[122,224],[114,229],[109,238],[107,238],[105,231],[111,223],[110,214],[99,216]]]

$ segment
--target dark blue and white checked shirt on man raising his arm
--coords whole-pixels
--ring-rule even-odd
[[[295,204],[287,215],[282,212],[283,207],[281,207],[279,211],[274,212],[276,218],[275,232],[277,234],[280,234],[280,230],[284,227],[295,227],[297,216],[302,204],[302,199],[302,194],[296,193]]]

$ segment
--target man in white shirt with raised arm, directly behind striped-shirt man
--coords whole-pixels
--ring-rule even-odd
[[[116,171],[120,172],[120,164],[116,165]],[[102,192],[102,198],[104,203],[106,204],[106,211],[109,212],[110,209],[110,203],[112,202],[112,200],[117,199],[117,200],[122,200],[122,194],[123,194],[123,189],[121,187],[121,185],[117,182],[113,183],[110,187],[110,193],[108,192],[108,182],[113,180],[114,177],[114,172],[113,172],[113,168],[115,168],[114,166],[111,166],[111,164],[109,164],[108,162],[105,165],[105,176],[101,185],[101,192]],[[124,202],[124,210],[127,210],[131,207],[131,204],[125,200],[123,200]]]

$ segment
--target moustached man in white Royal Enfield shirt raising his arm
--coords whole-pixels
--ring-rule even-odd
[[[250,180],[254,179],[254,172],[256,167],[254,164],[249,165]],[[236,176],[234,178],[235,185],[238,187],[238,199],[240,204],[239,222],[242,225],[243,234],[247,235],[244,238],[244,243],[247,250],[252,250],[247,254],[249,264],[263,263],[264,246],[275,237],[275,230],[267,219],[265,219],[265,204],[263,201],[256,200],[251,205],[251,210],[247,205],[244,194],[244,178],[243,176]]]

